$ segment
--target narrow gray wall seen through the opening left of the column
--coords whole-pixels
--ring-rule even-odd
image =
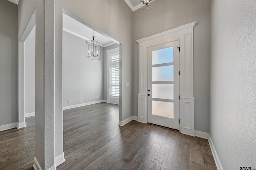
[[[35,112],[36,27],[24,43],[24,113]]]

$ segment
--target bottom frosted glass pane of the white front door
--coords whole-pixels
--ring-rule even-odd
[[[152,115],[173,118],[173,103],[152,100]]]

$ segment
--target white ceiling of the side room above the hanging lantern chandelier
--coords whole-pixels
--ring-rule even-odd
[[[93,29],[87,27],[86,25],[74,20],[70,16],[63,14],[63,30],[76,35],[86,41],[92,39]],[[105,37],[104,35],[94,31],[95,41],[99,41],[102,47],[107,47],[109,45],[115,44],[114,41]]]

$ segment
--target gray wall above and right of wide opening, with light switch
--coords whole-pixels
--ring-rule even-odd
[[[95,8],[92,8],[95,7]],[[119,119],[124,120],[132,115],[132,88],[125,82],[132,82],[132,10],[123,0],[56,0],[56,31],[62,20],[63,9],[71,12],[106,35],[120,42],[121,91]],[[58,35],[57,35],[58,36]],[[56,38],[56,43],[61,42]],[[62,48],[56,48],[57,51]]]

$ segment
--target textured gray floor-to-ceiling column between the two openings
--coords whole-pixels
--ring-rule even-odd
[[[55,0],[36,0],[35,170],[55,170],[54,155]]]

